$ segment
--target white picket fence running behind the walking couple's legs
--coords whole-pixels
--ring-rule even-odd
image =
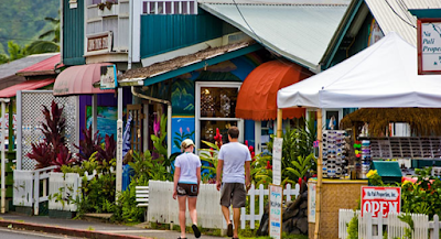
[[[299,195],[300,186],[297,184],[294,188],[287,185],[283,194],[287,195],[287,200],[291,200]],[[149,209],[148,221],[163,224],[179,224],[178,200],[172,198],[173,182],[150,181],[149,182]],[[250,228],[255,228],[255,222],[261,219],[263,215],[263,200],[268,197],[268,188],[262,185],[258,189],[251,186],[248,192],[250,197],[249,215],[246,215],[246,208],[241,208],[240,227],[245,229],[246,222],[250,221]],[[259,211],[255,211],[256,197],[258,199]],[[197,224],[204,228],[226,228],[224,216],[222,214],[220,192],[216,189],[215,184],[201,184],[200,195],[197,196]],[[186,214],[186,224],[191,225],[189,214]]]

